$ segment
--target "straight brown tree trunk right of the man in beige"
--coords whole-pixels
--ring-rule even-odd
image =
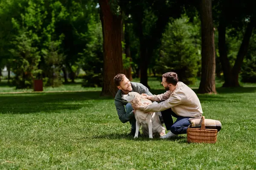
[[[198,93],[216,93],[212,0],[201,0],[202,74]]]

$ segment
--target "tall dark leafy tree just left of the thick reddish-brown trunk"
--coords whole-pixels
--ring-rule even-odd
[[[68,15],[56,20],[55,30],[58,35],[65,35],[61,44],[65,55],[63,71],[70,73],[69,77],[74,82],[76,69],[79,68],[78,61],[81,59],[79,54],[84,51],[85,46],[92,39],[89,27],[95,20],[99,21],[99,8],[96,8],[95,0],[60,0],[60,2],[65,8],[63,14]]]

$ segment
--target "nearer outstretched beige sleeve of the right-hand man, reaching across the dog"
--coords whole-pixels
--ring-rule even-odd
[[[177,106],[181,103],[181,99],[177,95],[170,96],[169,99],[166,101],[160,102],[158,104],[154,105],[145,105],[140,106],[141,111],[147,111],[147,112],[159,112],[164,111],[166,109],[172,108],[174,106]]]

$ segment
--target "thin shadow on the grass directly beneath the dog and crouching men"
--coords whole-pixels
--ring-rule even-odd
[[[170,141],[180,141],[182,142],[186,142],[186,140],[184,141],[184,139],[186,139],[186,137],[184,136],[178,136],[176,138],[170,138],[170,139],[160,139],[160,138],[156,138],[154,137],[153,139],[150,139],[148,136],[144,136],[141,135],[138,138],[134,139],[133,136],[129,136],[128,134],[119,134],[119,133],[110,133],[110,134],[104,134],[104,135],[99,135],[99,136],[93,136],[93,139],[127,139],[127,140],[133,140],[133,141],[163,141],[163,140],[170,140]]]

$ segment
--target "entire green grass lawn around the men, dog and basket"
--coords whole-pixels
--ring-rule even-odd
[[[216,95],[198,94],[204,116],[222,123],[215,144],[128,137],[113,99],[79,83],[45,88],[74,92],[0,94],[0,170],[256,169],[256,85],[216,86]],[[5,91],[14,88],[2,83]]]

